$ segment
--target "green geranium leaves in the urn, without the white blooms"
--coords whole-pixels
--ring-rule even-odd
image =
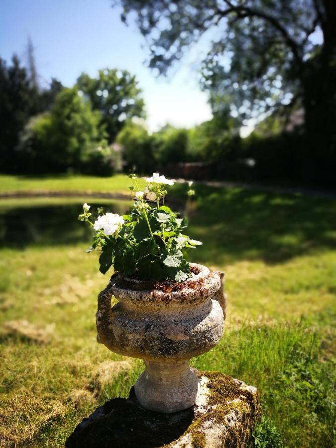
[[[169,214],[162,213],[167,210]],[[116,237],[97,233],[93,247],[102,249],[100,271],[105,274],[113,265],[115,270],[143,280],[186,280],[190,267],[182,250],[193,247],[186,235],[183,245],[179,241],[186,220],[179,222],[177,214],[168,207],[150,208],[147,217],[152,234],[145,216],[136,207],[123,216],[125,224]]]

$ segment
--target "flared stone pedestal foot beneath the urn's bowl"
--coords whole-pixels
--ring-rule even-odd
[[[194,406],[200,380],[189,361],[145,361],[145,366],[134,385],[143,408],[171,414]]]

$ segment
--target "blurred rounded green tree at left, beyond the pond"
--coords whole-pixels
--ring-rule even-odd
[[[79,95],[77,88],[63,89],[50,112],[30,120],[21,137],[19,152],[27,170],[34,172],[91,172],[104,163],[105,132],[100,112]]]

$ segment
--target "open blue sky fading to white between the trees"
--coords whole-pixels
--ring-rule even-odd
[[[192,126],[211,118],[197,71],[206,40],[189,52],[169,79],[157,79],[144,65],[145,42],[136,26],[124,25],[111,0],[1,0],[0,56],[15,52],[26,60],[28,35],[34,48],[41,84],[56,77],[66,86],[81,72],[95,76],[106,67],[126,69],[137,76],[150,130],[169,122]]]

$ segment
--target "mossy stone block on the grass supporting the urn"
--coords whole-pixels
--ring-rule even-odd
[[[132,388],[84,419],[66,448],[241,448],[260,416],[255,387],[219,372],[198,373],[196,404],[173,414],[143,409]]]

